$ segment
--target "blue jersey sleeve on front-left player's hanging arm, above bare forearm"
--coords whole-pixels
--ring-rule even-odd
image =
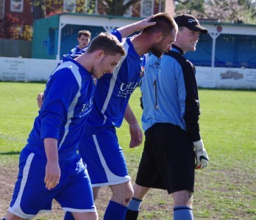
[[[68,68],[54,73],[46,84],[41,112],[41,139],[59,139],[60,125],[67,118],[68,106],[79,86]]]

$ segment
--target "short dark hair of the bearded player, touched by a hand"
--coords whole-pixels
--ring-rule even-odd
[[[177,23],[166,12],[160,12],[154,15],[149,22],[155,21],[156,24],[143,29],[144,33],[163,32],[164,35],[170,34],[173,29],[177,29]]]

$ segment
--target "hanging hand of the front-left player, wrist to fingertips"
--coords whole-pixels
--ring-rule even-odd
[[[60,166],[58,162],[47,162],[44,183],[46,183],[46,188],[49,190],[60,183]]]

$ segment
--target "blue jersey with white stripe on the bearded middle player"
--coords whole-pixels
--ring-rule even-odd
[[[118,40],[120,33],[111,32]],[[115,67],[113,74],[107,73],[99,78],[91,111],[85,125],[85,133],[94,133],[102,126],[120,127],[124,119],[129,97],[141,81],[145,69],[146,56],[139,56],[130,38],[122,40],[126,55]]]

